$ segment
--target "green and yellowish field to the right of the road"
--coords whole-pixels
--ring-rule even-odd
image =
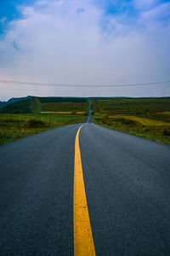
[[[94,122],[170,144],[170,98],[94,100]]]

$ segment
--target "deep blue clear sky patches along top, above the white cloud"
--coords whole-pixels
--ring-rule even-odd
[[[20,20],[24,18],[22,12],[20,11],[20,6],[23,7],[36,7],[37,11],[42,11],[42,9],[45,9],[48,6],[48,3],[50,1],[45,1],[44,5],[40,4],[37,5],[37,3],[43,3],[43,1],[36,1],[36,0],[1,0],[0,1],[0,17],[1,20],[4,19],[4,22],[1,22],[1,34],[5,32],[5,30],[8,27],[8,22],[12,20]],[[51,1],[55,2],[55,1]],[[56,1],[59,2],[59,1]],[[66,2],[66,1],[65,1]],[[85,10],[86,9],[86,1],[84,1],[85,4],[82,3],[82,7],[79,8],[79,10]],[[162,0],[162,1],[91,1],[94,6],[101,9],[103,18],[105,17],[111,17],[116,16],[117,18],[122,18],[124,21],[129,20],[138,20],[139,15],[143,13],[144,11],[149,11],[151,9],[155,9],[156,7],[161,6],[163,3],[170,3],[170,1]],[[84,5],[84,6],[83,6]],[[81,5],[80,5],[81,6]],[[167,12],[166,20],[169,20],[169,12]],[[158,18],[159,19],[159,18]]]

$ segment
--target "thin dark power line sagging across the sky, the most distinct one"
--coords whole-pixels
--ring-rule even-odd
[[[0,79],[1,84],[22,84],[22,85],[34,85],[34,86],[56,86],[56,87],[126,87],[126,86],[143,86],[143,85],[152,85],[152,84],[167,84],[170,83],[170,80],[151,82],[151,83],[142,83],[142,84],[49,84],[49,83],[37,83],[37,82],[23,82],[23,81],[14,81],[14,80],[3,80]],[[168,85],[167,87],[169,87]]]

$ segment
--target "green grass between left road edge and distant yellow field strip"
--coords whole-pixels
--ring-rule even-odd
[[[2,113],[0,145],[63,125],[82,122],[83,114],[68,113]]]

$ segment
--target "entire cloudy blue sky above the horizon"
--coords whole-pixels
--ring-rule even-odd
[[[169,80],[170,1],[0,0],[0,101],[170,96],[169,82],[118,86]]]

